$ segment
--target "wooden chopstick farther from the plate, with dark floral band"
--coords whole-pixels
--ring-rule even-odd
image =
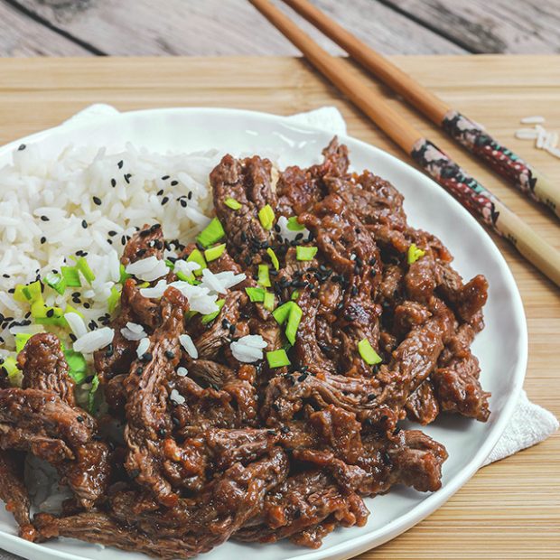
[[[365,42],[331,20],[308,0],[284,0],[329,39],[341,46],[359,64],[405,98],[472,154],[509,180],[529,198],[541,202],[560,218],[560,187],[495,140],[481,125],[453,109],[406,72],[388,61]]]

